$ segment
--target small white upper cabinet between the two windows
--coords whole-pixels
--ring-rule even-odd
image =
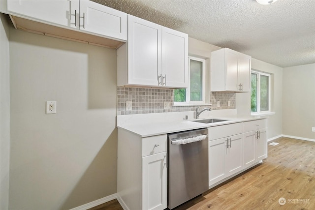
[[[211,53],[211,91],[249,92],[250,56],[223,48]]]

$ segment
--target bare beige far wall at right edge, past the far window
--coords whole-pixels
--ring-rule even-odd
[[[284,135],[315,140],[315,63],[284,68]]]

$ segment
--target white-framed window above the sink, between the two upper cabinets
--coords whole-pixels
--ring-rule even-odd
[[[189,81],[187,89],[174,90],[175,105],[205,103],[205,62],[204,59],[189,57]]]

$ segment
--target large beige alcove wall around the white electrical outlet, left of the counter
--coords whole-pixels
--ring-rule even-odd
[[[116,50],[9,32],[9,209],[66,210],[116,193]]]

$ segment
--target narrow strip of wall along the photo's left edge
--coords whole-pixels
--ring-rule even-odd
[[[10,157],[10,69],[7,16],[0,14],[0,210],[8,209]]]

